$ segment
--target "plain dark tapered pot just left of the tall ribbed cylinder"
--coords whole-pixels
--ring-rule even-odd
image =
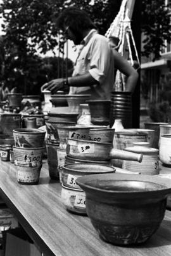
[[[108,125],[110,123],[110,101],[87,101],[91,113],[91,122],[95,125]]]

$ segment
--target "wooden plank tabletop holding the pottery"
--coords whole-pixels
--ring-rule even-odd
[[[171,211],[166,211],[160,229],[144,245],[115,246],[99,238],[88,217],[65,210],[60,184],[49,179],[46,163],[39,185],[18,184],[10,162],[1,162],[0,177],[0,196],[45,255],[171,255]]]

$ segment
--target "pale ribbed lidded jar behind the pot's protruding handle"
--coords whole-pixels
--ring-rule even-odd
[[[134,143],[133,143],[134,144]],[[134,146],[129,146],[125,150],[134,153],[143,153],[143,160],[140,163],[134,161],[123,161],[122,168],[129,171],[139,171],[141,174],[156,175],[159,174],[158,167],[158,149],[149,148],[149,143],[146,142],[135,143]]]

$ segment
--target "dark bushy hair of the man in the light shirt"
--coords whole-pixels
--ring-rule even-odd
[[[58,29],[64,30],[69,26],[72,31],[82,31],[85,29],[96,29],[91,18],[84,10],[75,7],[65,9],[56,20]]]

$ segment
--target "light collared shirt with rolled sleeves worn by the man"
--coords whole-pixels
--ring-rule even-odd
[[[70,87],[70,94],[91,94],[92,98],[110,99],[114,84],[113,53],[107,38],[92,29],[83,40],[73,76],[89,72],[98,82],[91,87]]]

